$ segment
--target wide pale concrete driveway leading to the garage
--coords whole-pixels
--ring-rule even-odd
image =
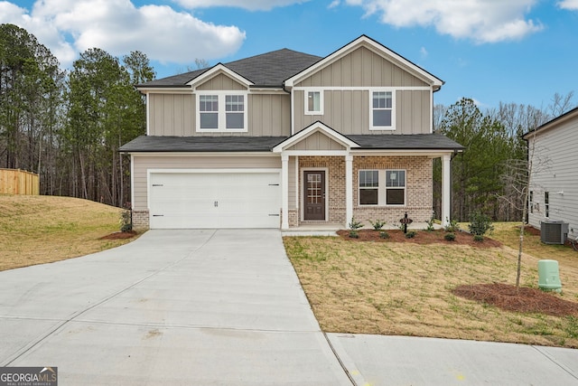
[[[61,385],[348,385],[280,231],[147,231],[0,272],[0,366]]]

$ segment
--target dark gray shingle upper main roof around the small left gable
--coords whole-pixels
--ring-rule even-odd
[[[308,53],[296,52],[284,48],[267,52],[238,61],[223,63],[231,71],[251,80],[255,86],[281,87],[283,81],[296,73],[312,66],[321,57]],[[197,70],[174,75],[168,78],[149,81],[137,87],[182,87],[209,69]]]

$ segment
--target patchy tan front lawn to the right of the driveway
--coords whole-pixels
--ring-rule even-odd
[[[578,347],[578,314],[503,311],[453,294],[462,285],[516,282],[517,225],[496,224],[503,246],[285,237],[287,254],[322,330]],[[536,238],[537,244],[536,244]],[[514,241],[512,241],[514,240]],[[537,260],[557,259],[563,294],[578,304],[578,252],[527,235],[522,285],[537,287]],[[517,245],[513,245],[517,247]]]

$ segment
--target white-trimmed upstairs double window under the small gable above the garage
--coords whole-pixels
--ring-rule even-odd
[[[197,131],[247,131],[247,92],[198,92]]]

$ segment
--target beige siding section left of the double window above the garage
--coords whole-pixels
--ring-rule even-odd
[[[151,136],[191,136],[194,100],[190,94],[149,94]]]

